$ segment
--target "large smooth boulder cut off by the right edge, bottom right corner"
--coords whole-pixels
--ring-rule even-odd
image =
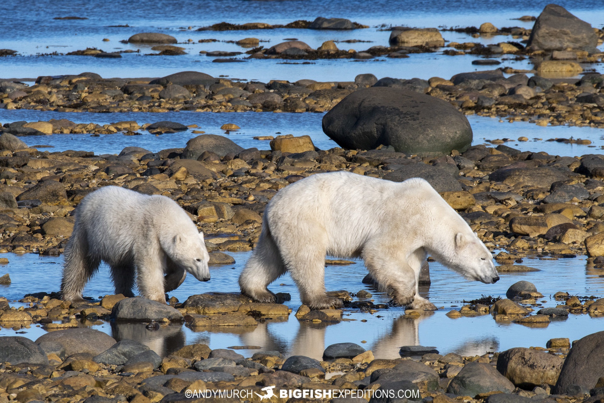
[[[556,382],[556,393],[575,395],[590,390],[604,376],[604,332],[587,335],[573,343]]]

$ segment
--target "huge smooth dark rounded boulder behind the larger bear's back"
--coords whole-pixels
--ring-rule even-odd
[[[465,151],[472,143],[466,117],[448,102],[400,88],[370,87],[347,95],[323,117],[323,131],[347,149],[383,144],[422,156]]]

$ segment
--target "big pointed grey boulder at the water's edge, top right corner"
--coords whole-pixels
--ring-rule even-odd
[[[533,25],[527,48],[530,50],[565,50],[596,47],[598,36],[591,24],[557,4],[548,4]]]

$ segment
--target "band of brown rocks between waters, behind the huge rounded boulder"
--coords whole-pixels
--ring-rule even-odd
[[[513,72],[496,69],[429,80],[378,80],[373,74],[359,74],[354,82],[295,83],[245,83],[196,72],[154,80],[102,79],[98,74],[82,73],[38,77],[33,86],[0,82],[0,107],[57,112],[325,112],[357,89],[381,86],[432,95],[466,115],[528,121],[539,126],[604,127],[604,75],[545,79],[517,73],[506,78],[504,71]],[[52,132],[71,131],[68,127],[53,127]]]

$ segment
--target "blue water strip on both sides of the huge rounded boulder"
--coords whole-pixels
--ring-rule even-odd
[[[90,137],[89,134],[52,134],[44,136],[21,137],[28,146],[53,146],[50,151],[69,149],[94,151],[97,155],[103,153],[119,153],[124,147],[138,146],[157,152],[168,148],[185,147],[188,140],[198,134],[193,130],[205,131],[207,134],[224,135],[243,148],[256,147],[259,150],[269,150],[269,141],[254,140],[254,137],[279,134],[295,136],[309,135],[316,147],[329,150],[338,146],[323,133],[321,120],[324,114],[317,113],[274,113],[274,112],[127,112],[113,114],[93,114],[88,112],[41,112],[27,109],[0,109],[0,123],[11,121],[48,121],[50,119],[69,119],[76,123],[108,124],[124,120],[134,120],[138,124],[155,123],[161,120],[172,120],[185,125],[197,124],[199,127],[186,132],[156,136],[140,130],[140,136],[124,136],[117,134],[101,134],[100,137]],[[467,117],[474,132],[473,144],[487,144],[487,140],[508,138],[507,146],[522,151],[545,151],[551,155],[580,156],[588,153],[601,152],[604,144],[601,129],[577,126],[537,126],[534,123],[507,121],[500,122],[498,118]],[[225,123],[235,123],[241,127],[238,131],[225,134],[220,126]],[[277,132],[279,134],[277,134]],[[527,137],[529,141],[515,141],[519,137]],[[546,141],[551,138],[583,138],[592,141],[591,146],[585,144],[564,144]],[[43,150],[43,149],[41,149]]]

